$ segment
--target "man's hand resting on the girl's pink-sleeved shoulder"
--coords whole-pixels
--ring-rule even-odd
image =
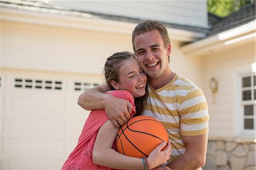
[[[104,95],[102,103],[105,107],[106,114],[115,127],[124,125],[129,119],[133,105],[126,99]]]

